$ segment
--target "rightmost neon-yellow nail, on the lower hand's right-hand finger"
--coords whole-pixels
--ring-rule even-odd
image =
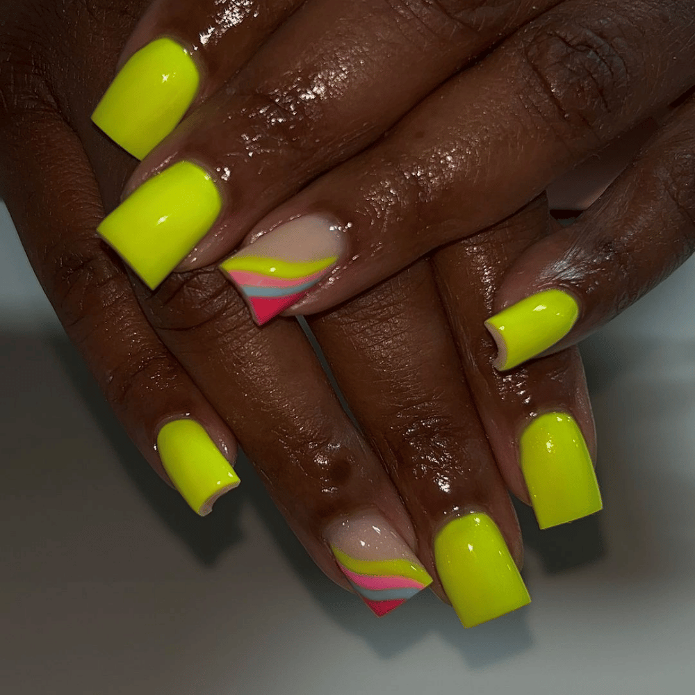
[[[603,509],[587,444],[568,414],[535,418],[521,435],[519,462],[540,528]]]

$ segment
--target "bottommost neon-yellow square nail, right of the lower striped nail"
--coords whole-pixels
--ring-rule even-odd
[[[450,521],[434,539],[439,578],[464,628],[531,603],[500,530],[487,514]]]

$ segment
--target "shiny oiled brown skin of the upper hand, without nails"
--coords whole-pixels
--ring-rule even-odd
[[[196,40],[199,25],[189,19],[177,29]],[[207,20],[203,13],[199,24]],[[170,26],[155,6],[140,41],[160,33],[161,22]],[[129,189],[172,158],[224,172],[228,204],[189,268],[220,259],[246,233],[253,238],[298,215],[333,215],[350,229],[343,263],[293,311],[329,309],[514,213],[687,92],[695,83],[694,22],[693,3],[676,0],[304,3],[241,70],[230,61],[224,88],[211,86],[211,98],[142,164]],[[485,51],[475,69],[458,72]],[[687,257],[689,104],[657,136],[666,147],[626,174],[634,204],[611,194],[614,204],[592,211],[591,227],[582,221],[530,250],[525,285],[521,267],[510,271],[497,311],[536,291],[565,289],[590,309],[561,343],[571,345],[605,320],[602,307],[613,316]],[[220,136],[214,147],[210,129]],[[660,215],[672,231],[662,234],[650,271],[648,226]],[[598,268],[582,275],[582,264],[603,265],[611,253],[619,262],[604,265],[612,272],[603,284]],[[634,275],[631,256],[641,259]]]

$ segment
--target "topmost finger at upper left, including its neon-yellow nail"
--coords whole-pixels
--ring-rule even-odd
[[[303,0],[155,0],[92,120],[142,159],[220,88]]]

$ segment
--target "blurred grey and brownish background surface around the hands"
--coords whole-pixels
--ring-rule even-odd
[[[0,205],[0,688],[8,695],[692,692],[695,263],[584,343],[605,511],[539,532],[530,607],[382,620],[252,468],[206,519],[124,436]]]

